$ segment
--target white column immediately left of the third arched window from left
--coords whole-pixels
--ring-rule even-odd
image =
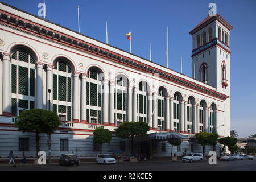
[[[86,79],[87,79],[87,74],[81,74],[82,78],[82,89],[81,89],[81,122],[88,122],[87,121],[87,110],[86,110]]]

